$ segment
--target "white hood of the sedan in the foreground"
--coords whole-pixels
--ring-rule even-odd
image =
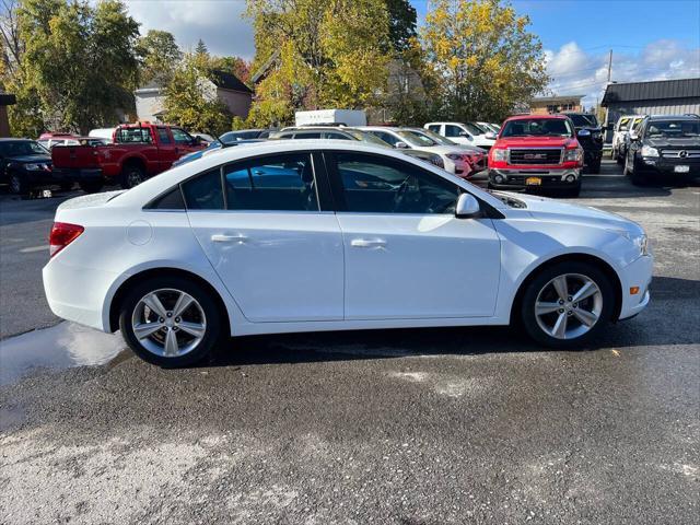
[[[590,206],[574,205],[532,195],[511,194],[506,191],[499,191],[499,194],[508,195],[515,200],[524,202],[527,212],[529,212],[533,219],[538,221],[587,224],[630,235],[641,235],[644,233],[642,226],[634,221],[630,221],[617,213],[598,210]]]

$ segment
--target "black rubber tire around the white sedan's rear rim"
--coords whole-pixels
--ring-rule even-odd
[[[147,348],[147,346],[144,346],[144,343],[142,343],[137,338],[132,327],[132,317],[135,315],[135,311],[141,302],[141,299],[143,299],[149,293],[164,289],[176,290],[190,295],[197,301],[197,303],[199,303],[199,306],[201,307],[201,311],[205,315],[206,329],[205,335],[201,337],[201,340],[186,353],[176,357],[160,355],[149,350],[149,348]],[[162,304],[165,308],[173,306],[166,302],[163,302]],[[217,304],[211,299],[210,293],[207,290],[202,289],[202,287],[198,283],[175,276],[148,279],[138,282],[131,290],[129,290],[124,301],[119,305],[119,328],[121,330],[124,340],[127,342],[127,345],[129,345],[129,348],[131,348],[131,350],[133,350],[133,352],[138,357],[151,364],[168,369],[189,366],[205,359],[213,350],[217,342],[220,340],[220,335],[222,332],[221,314]],[[186,332],[180,332],[180,335],[187,336]],[[159,331],[153,337],[164,336],[161,336],[161,331]],[[177,335],[175,335],[175,337],[177,337]],[[150,342],[147,339],[145,345],[149,343]]]

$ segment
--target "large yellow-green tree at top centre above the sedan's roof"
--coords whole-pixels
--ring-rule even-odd
[[[265,69],[250,122],[289,122],[298,108],[362,107],[387,79],[384,0],[249,0],[254,69]]]

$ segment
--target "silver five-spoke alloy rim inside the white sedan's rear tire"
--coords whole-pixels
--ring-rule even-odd
[[[131,329],[141,346],[163,358],[191,352],[207,334],[207,316],[191,295],[164,288],[145,294],[131,315]]]

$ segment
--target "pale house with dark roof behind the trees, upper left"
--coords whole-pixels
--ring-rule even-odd
[[[253,103],[253,91],[235,74],[212,70],[199,82],[202,95],[208,101],[218,98],[236,117],[246,118]],[[139,120],[163,121],[165,113],[165,88],[151,83],[133,92],[136,114]]]

